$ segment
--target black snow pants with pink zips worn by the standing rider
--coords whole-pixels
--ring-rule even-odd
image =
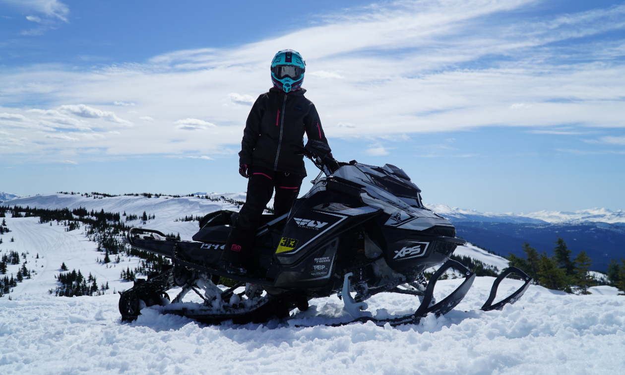
[[[246,254],[254,243],[262,211],[271,199],[274,189],[274,213],[281,216],[291,211],[304,179],[304,176],[272,171],[260,166],[252,166],[249,173],[246,202],[239,211],[239,217],[232,226],[221,255],[221,259],[239,264],[249,261]]]

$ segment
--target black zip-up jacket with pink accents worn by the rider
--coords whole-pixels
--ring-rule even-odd
[[[243,131],[239,164],[306,176],[304,157],[294,155],[291,144],[304,146],[304,132],[308,139],[326,144],[327,139],[317,109],[304,93],[271,88],[256,99]]]

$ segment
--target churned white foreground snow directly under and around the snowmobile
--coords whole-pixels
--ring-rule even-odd
[[[441,292],[459,282],[440,281]],[[446,316],[397,328],[321,326],[346,319],[336,297],[314,300],[309,311],[281,322],[204,326],[153,309],[122,323],[114,295],[24,294],[0,300],[0,373],[623,373],[625,297],[531,286],[503,311],[472,310],[486,299],[491,282],[478,277]],[[386,309],[377,314],[400,314],[414,309],[414,300],[374,296],[369,306]]]

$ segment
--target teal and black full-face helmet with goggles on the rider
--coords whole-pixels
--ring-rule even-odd
[[[285,93],[296,91],[304,82],[306,61],[292,49],[282,49],[271,61],[271,81]]]

